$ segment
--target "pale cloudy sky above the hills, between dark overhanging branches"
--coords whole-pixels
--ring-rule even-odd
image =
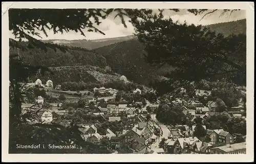
[[[157,11],[157,9],[156,9]],[[164,18],[172,18],[174,21],[178,20],[179,22],[186,21],[187,24],[202,24],[202,25],[208,25],[208,24],[215,24],[215,23],[221,23],[221,22],[229,22],[229,21],[236,21],[240,19],[245,19],[245,10],[240,11],[234,11],[231,15],[230,13],[226,13],[223,16],[220,17],[222,13],[222,10],[217,10],[216,12],[212,14],[208,14],[205,16],[202,20],[203,15],[194,15],[192,13],[187,12],[185,9],[181,9],[179,12],[166,10],[164,11],[163,15]],[[84,34],[86,37],[80,35],[80,33],[76,33],[74,31],[70,31],[69,33],[63,33],[63,34],[53,34],[52,31],[47,31],[48,37],[44,35],[44,33],[39,32],[40,36],[35,37],[36,39],[42,39],[42,40],[50,40],[50,39],[63,39],[63,40],[79,40],[79,39],[87,39],[87,40],[95,40],[95,39],[106,39],[106,38],[115,38],[115,37],[123,37],[123,36],[129,36],[133,35],[134,28],[133,25],[128,22],[129,19],[126,18],[125,22],[127,25],[127,28],[124,28],[123,24],[121,23],[121,20],[117,17],[114,19],[114,14],[110,15],[104,20],[101,20],[102,23],[96,27],[101,30],[105,35],[94,33],[94,32],[87,32],[84,30]],[[14,39],[13,35],[10,32],[10,38]]]

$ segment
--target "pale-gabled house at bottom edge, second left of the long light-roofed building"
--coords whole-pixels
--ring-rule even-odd
[[[188,138],[178,138],[174,143],[174,153],[175,154],[190,154],[191,145],[200,141],[198,138],[190,136]]]

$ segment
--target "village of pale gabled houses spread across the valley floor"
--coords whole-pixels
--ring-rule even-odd
[[[125,76],[120,80],[129,83]],[[40,79],[35,83],[27,84],[28,87],[39,86],[46,90],[61,90],[60,85],[53,85],[52,80],[47,80],[43,85]],[[222,129],[207,129],[204,120],[218,115],[228,115],[230,118],[246,118],[246,112],[241,106],[232,107],[228,112],[216,112],[217,102],[208,101],[206,105],[196,98],[188,98],[184,88],[180,90],[182,96],[169,97],[169,106],[179,106],[182,113],[190,119],[190,125],[165,125],[156,118],[156,110],[165,105],[166,98],[157,97],[155,101],[140,98],[141,101],[125,103],[116,101],[118,90],[112,88],[93,88],[94,96],[90,99],[81,98],[73,102],[78,107],[73,111],[64,104],[66,97],[59,95],[59,103],[48,103],[44,97],[38,96],[34,104],[22,105],[23,108],[38,109],[42,107],[37,122],[51,124],[54,121],[61,122],[64,116],[71,116],[75,111],[83,111],[82,115],[95,117],[84,124],[78,124],[81,137],[84,141],[106,144],[113,153],[137,153],[137,154],[244,154],[246,153],[246,135],[230,133]],[[132,94],[142,95],[144,91],[135,89]],[[154,90],[146,91],[154,94]],[[207,97],[211,91],[195,90],[199,97]],[[87,92],[88,93],[88,92]],[[93,94],[93,93],[92,93]],[[86,95],[86,94],[84,94]],[[89,94],[88,94],[89,95]],[[61,98],[62,97],[62,98]],[[64,98],[63,98],[64,97]],[[82,102],[82,103],[81,103]],[[48,104],[48,105],[45,105]],[[50,104],[50,107],[49,107]],[[103,105],[102,105],[103,104]],[[86,112],[84,112],[86,111]],[[189,118],[188,118],[189,116]],[[83,117],[83,116],[80,116]],[[171,119],[171,118],[170,118]],[[205,129],[208,140],[201,141],[195,133],[198,128],[197,120],[201,120],[200,126]],[[185,120],[187,121],[187,120]],[[36,121],[34,121],[36,122]],[[31,122],[32,123],[32,122]],[[114,124],[119,126],[113,129]],[[239,139],[239,142],[238,142]],[[122,152],[120,147],[127,150]]]

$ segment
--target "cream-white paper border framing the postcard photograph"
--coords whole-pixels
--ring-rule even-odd
[[[2,161],[253,161],[254,6],[253,2],[2,2]],[[247,154],[8,154],[9,8],[172,8],[241,9],[247,22]]]

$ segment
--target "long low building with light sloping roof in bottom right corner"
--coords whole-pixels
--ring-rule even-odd
[[[211,154],[246,154],[246,142],[227,144],[225,146],[210,149]]]

